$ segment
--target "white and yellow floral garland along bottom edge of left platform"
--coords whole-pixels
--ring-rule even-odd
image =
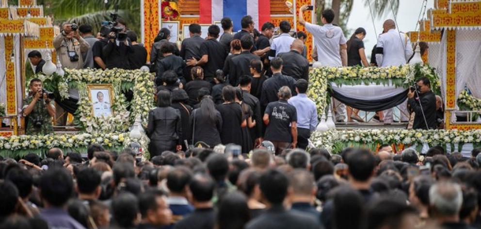
[[[18,158],[28,153],[43,153],[53,147],[59,147],[64,151],[85,153],[91,144],[100,144],[107,149],[122,150],[134,140],[129,138],[128,133],[80,133],[71,134],[47,134],[47,135],[19,135],[0,137],[0,155],[4,157]],[[144,149],[147,149],[148,138],[137,140]],[[145,154],[144,157],[148,157]]]

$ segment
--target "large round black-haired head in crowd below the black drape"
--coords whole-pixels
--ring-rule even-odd
[[[366,181],[372,176],[376,159],[368,150],[354,149],[347,155],[346,164],[349,166],[349,174],[355,180]]]

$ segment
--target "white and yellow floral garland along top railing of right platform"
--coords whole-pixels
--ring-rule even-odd
[[[441,85],[435,69],[429,65],[401,65],[391,67],[320,67],[310,72],[308,96],[317,104],[318,112],[325,112],[330,103],[330,82],[338,85],[360,85],[369,83],[393,84],[408,88],[417,78],[425,76],[431,81],[434,93]]]

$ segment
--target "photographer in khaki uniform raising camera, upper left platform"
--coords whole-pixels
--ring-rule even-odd
[[[62,29],[62,33],[53,38],[60,63],[64,68],[81,69],[84,62],[82,55],[90,50],[90,45],[80,36],[77,24],[65,22]]]

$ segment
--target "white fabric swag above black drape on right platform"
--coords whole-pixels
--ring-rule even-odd
[[[332,82],[331,86],[334,91],[345,97],[363,100],[376,100],[393,97],[406,90],[403,87],[396,87],[394,85],[376,85],[375,83],[369,85],[339,86]]]

